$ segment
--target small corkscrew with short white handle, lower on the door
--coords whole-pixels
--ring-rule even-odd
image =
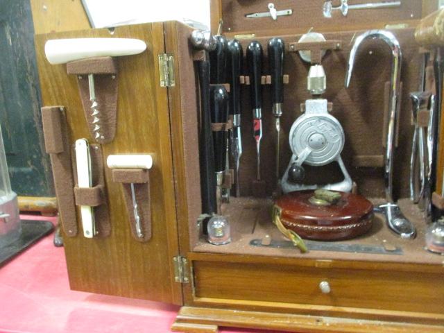
[[[153,157],[144,155],[109,155],[106,164],[110,169],[151,169],[153,167]],[[130,184],[131,199],[133,200],[133,214],[137,237],[144,237],[142,225],[140,223],[139,209],[137,207],[136,192],[134,184]]]

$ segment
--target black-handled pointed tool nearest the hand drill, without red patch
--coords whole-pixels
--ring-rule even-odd
[[[268,64],[271,71],[271,103],[275,117],[276,131],[276,182],[279,187],[280,178],[280,117],[284,102],[284,50],[285,44],[281,38],[271,38],[268,41]]]

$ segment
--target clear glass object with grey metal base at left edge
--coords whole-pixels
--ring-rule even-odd
[[[0,248],[16,241],[21,230],[17,194],[11,189],[0,128]]]

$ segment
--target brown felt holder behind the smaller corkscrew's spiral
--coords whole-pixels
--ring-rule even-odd
[[[126,210],[130,221],[131,234],[137,241],[145,242],[151,239],[151,196],[148,169],[112,169],[112,181],[121,182]],[[142,237],[137,236],[135,210],[131,184],[134,186],[137,212],[139,214]]]

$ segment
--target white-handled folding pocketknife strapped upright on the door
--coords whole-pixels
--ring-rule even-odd
[[[91,187],[91,156],[89,155],[89,144],[87,139],[76,140],[76,165],[78,187]],[[94,237],[96,234],[94,208],[91,206],[80,206],[80,216],[82,218],[83,236],[86,238]]]

